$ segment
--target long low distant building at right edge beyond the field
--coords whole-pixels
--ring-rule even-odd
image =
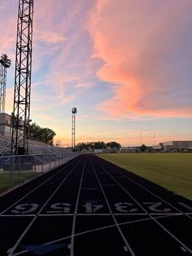
[[[192,140],[173,140],[163,142],[164,150],[190,150],[192,149]]]

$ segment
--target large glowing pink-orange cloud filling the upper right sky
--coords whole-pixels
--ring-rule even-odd
[[[181,84],[185,68],[190,68],[181,59],[181,43],[187,45],[191,11],[188,0],[96,2],[87,25],[94,42],[92,57],[104,61],[97,75],[111,82],[113,93],[98,104],[99,110],[111,116],[192,116],[190,100],[181,99],[191,95],[192,77]]]

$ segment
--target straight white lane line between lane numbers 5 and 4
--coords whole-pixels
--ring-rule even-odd
[[[70,246],[70,255],[73,256],[74,255],[74,234],[76,231],[76,214],[77,214],[77,209],[78,209],[78,203],[79,203],[79,198],[80,198],[80,191],[81,191],[81,187],[82,187],[82,182],[83,182],[83,175],[84,175],[84,171],[85,171],[85,162],[83,165],[83,170],[82,170],[82,174],[81,174],[81,181],[80,181],[80,185],[79,185],[79,190],[78,190],[78,194],[76,197],[76,208],[75,208],[75,212],[73,215],[73,220],[72,220],[72,239],[71,239],[71,246]]]

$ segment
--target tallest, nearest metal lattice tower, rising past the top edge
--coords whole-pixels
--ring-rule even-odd
[[[15,92],[12,113],[12,155],[28,154],[32,38],[33,0],[19,0],[15,59]]]

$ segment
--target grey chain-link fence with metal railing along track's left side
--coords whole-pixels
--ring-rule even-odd
[[[0,157],[0,192],[61,166],[79,152]]]

